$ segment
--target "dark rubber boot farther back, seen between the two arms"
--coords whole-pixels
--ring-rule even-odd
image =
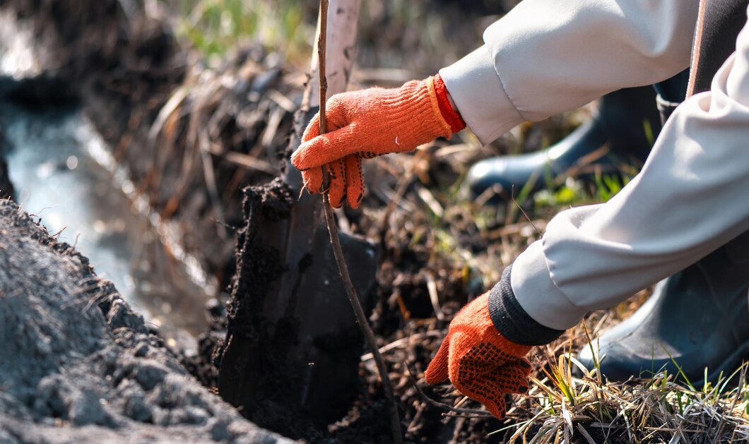
[[[648,135],[646,126],[652,130]],[[565,139],[538,153],[500,156],[476,163],[468,172],[466,185],[475,198],[500,185],[504,198],[512,189],[517,194],[533,180],[533,191],[560,174],[591,177],[601,171],[617,174],[627,165],[637,170],[645,162],[652,142],[661,129],[651,86],[627,88],[601,97],[598,112]]]

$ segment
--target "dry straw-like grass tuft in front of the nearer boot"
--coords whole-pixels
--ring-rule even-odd
[[[550,357],[550,363],[554,362]],[[580,371],[574,377],[571,369]],[[607,383],[569,354],[509,410],[514,443],[733,443],[749,440],[747,365],[702,390],[673,382],[673,374]],[[530,405],[529,405],[530,404]]]

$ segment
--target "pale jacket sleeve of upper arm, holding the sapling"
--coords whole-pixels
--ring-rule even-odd
[[[440,70],[486,144],[524,121],[649,85],[689,66],[699,0],[524,0],[485,45]]]

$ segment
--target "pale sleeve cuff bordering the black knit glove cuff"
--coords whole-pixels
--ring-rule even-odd
[[[532,243],[515,261],[510,276],[515,299],[536,322],[551,329],[577,325],[586,309],[574,305],[557,288],[546,264],[543,240]]]

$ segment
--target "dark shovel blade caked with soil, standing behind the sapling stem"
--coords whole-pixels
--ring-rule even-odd
[[[327,231],[305,214],[309,196],[297,204],[280,179],[248,187],[245,196],[226,340],[212,353],[221,356],[219,394],[252,422],[309,439],[354,401],[363,337],[339,285]],[[287,240],[300,231],[312,239]],[[352,264],[369,270],[352,277],[366,303],[374,247],[348,236],[342,246]]]

